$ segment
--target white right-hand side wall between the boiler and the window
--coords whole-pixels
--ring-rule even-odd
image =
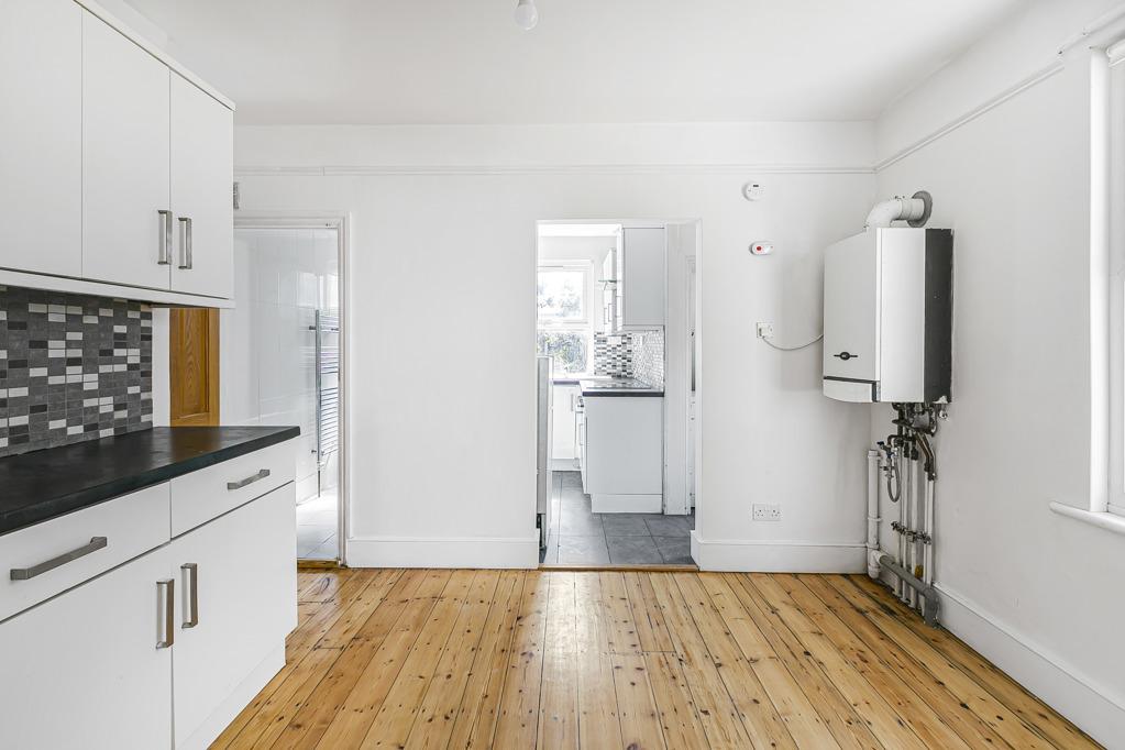
[[[1091,450],[1105,451],[1091,437],[1104,405],[1090,364],[1089,65],[1081,49],[1055,52],[1110,4],[1036,3],[902,100],[879,125],[881,159],[1036,81],[888,165],[879,193],[929,190],[930,226],[955,231],[953,404],[937,451],[943,621],[1125,747],[1125,539],[1047,507],[1088,507]],[[873,437],[889,432],[880,409]]]

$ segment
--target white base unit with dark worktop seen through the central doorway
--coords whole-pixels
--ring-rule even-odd
[[[598,392],[601,390],[602,392]],[[583,383],[585,491],[594,513],[664,510],[664,394]]]

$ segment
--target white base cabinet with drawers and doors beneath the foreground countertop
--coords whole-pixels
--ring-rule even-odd
[[[294,445],[7,537],[0,575],[29,588],[0,590],[14,613],[0,621],[0,748],[195,750],[218,737],[285,666],[297,626]],[[231,480],[248,466],[284,484]],[[192,501],[210,515],[177,532],[172,508]]]

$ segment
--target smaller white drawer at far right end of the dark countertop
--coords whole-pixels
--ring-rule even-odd
[[[295,451],[290,440],[173,479],[172,536],[292,481]]]

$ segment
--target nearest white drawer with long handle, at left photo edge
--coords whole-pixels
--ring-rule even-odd
[[[168,542],[168,514],[165,482],[4,535],[0,620]]]

